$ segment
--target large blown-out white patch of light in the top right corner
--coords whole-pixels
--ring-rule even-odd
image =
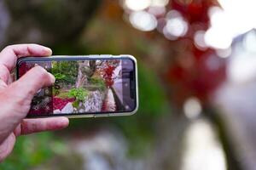
[[[211,27],[206,33],[207,45],[212,48],[230,48],[233,39],[255,28],[255,1],[218,0],[222,8],[209,10]]]

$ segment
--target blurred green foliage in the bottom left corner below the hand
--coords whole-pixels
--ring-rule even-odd
[[[23,170],[48,161],[54,154],[58,141],[51,133],[21,136],[17,139],[12,154],[0,164],[0,169]]]

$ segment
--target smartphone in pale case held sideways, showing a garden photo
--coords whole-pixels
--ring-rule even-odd
[[[131,55],[20,58],[16,78],[35,65],[53,74],[55,84],[38,91],[27,118],[128,116],[137,111],[137,60]]]

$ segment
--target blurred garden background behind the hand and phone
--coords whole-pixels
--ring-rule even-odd
[[[253,170],[256,3],[251,0],[1,0],[0,48],[132,54],[134,116],[71,120],[19,137],[4,170]]]

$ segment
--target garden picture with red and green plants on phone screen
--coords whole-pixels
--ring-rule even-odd
[[[54,86],[38,91],[29,115],[114,112],[125,108],[121,105],[122,66],[119,59],[37,63],[21,64],[20,70],[28,71],[34,65],[41,65],[56,80]]]

